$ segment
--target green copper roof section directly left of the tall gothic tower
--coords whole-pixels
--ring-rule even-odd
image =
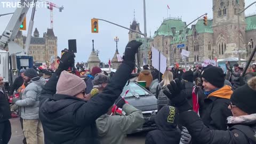
[[[200,33],[213,33],[212,20],[207,21],[207,26],[204,25],[204,20],[198,20],[196,23],[196,31]]]

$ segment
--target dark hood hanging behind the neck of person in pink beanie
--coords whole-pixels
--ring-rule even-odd
[[[83,100],[76,97],[71,97],[69,95],[54,94],[53,99],[47,99],[43,103],[44,106],[42,107],[42,111],[44,113],[55,113],[56,111],[59,111],[76,101]]]

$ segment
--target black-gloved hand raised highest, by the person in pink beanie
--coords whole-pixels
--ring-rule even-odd
[[[137,42],[135,40],[129,42],[125,47],[125,52],[123,57],[124,62],[125,61],[135,62],[135,53],[137,53],[141,45],[142,45],[141,42]]]

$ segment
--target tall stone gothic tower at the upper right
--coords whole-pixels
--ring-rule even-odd
[[[245,49],[245,15],[238,18],[237,14],[244,6],[244,0],[213,0],[213,45],[218,59],[237,57],[234,51]]]

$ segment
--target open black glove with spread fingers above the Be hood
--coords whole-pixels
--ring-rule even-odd
[[[185,84],[178,78],[167,85],[168,90],[164,90],[163,93],[167,98],[171,100],[174,107],[177,107],[180,112],[190,110],[192,107],[189,105],[186,99]]]

